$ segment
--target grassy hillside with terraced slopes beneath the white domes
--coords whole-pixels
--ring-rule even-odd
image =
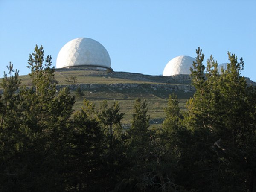
[[[67,81],[70,77],[75,77],[76,81]],[[22,85],[31,85],[29,75],[20,76]],[[180,107],[185,108],[186,101],[192,96],[192,93],[185,93],[184,91],[168,91],[163,89],[154,89],[150,91],[147,85],[180,85],[189,84],[190,79],[188,76],[177,76],[174,78],[163,76],[149,76],[140,73],[125,73],[113,72],[107,73],[102,70],[56,70],[55,79],[58,81],[59,86],[78,86],[82,84],[104,85],[107,88],[99,89],[84,89],[84,96],[76,96],[76,103],[74,110],[79,110],[86,98],[90,102],[99,107],[103,100],[108,100],[111,104],[114,100],[119,102],[121,112],[125,113],[122,123],[128,124],[131,122],[133,113],[134,100],[137,98],[146,99],[148,103],[148,114],[151,116],[152,124],[159,124],[161,119],[165,117],[163,109],[166,107],[169,94],[175,93],[178,96]],[[120,89],[113,90],[109,88],[111,84],[139,84],[145,88],[129,90]],[[75,90],[71,89],[71,93],[75,95]]]

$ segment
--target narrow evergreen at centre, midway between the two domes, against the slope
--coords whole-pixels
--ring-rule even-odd
[[[129,171],[119,183],[119,191],[143,191],[148,188],[147,162],[151,156],[152,131],[148,130],[150,116],[147,111],[146,101],[136,99],[131,128],[128,130],[126,139]]]

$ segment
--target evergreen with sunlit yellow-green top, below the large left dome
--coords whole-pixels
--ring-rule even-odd
[[[105,191],[104,130],[93,113],[94,105],[84,100],[82,109],[74,114],[67,175],[69,191]]]

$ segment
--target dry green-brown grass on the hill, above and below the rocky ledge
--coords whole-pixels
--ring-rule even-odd
[[[116,73],[117,75],[119,73]],[[132,78],[129,78],[129,75]],[[154,81],[154,76],[144,76],[143,74],[134,74],[134,73],[125,73],[125,76],[111,76],[105,71],[94,71],[94,70],[63,70],[55,71],[55,79],[58,81],[58,84],[69,85],[74,84],[72,82],[67,82],[67,77],[75,76],[75,84],[116,84],[116,83],[132,83],[132,84],[144,84],[143,89],[140,90],[119,90],[113,91],[109,89],[101,90],[84,90],[84,96],[76,97],[76,103],[73,107],[75,111],[80,110],[83,105],[83,100],[86,98],[90,102],[93,102],[96,107],[100,106],[100,103],[103,100],[107,100],[108,104],[111,105],[113,101],[119,102],[120,112],[125,113],[122,123],[128,124],[131,122],[133,106],[135,99],[140,98],[146,100],[148,104],[148,114],[151,116],[151,119],[163,119],[165,118],[164,108],[167,105],[167,100],[169,93],[166,90],[153,90],[149,91],[147,89],[147,84],[173,84],[175,83],[166,83],[160,82],[159,80]],[[136,78],[138,76],[138,78]],[[135,77],[135,78],[134,78]],[[150,81],[145,79],[151,78]],[[29,75],[20,76],[21,85],[29,86],[32,84],[32,81]],[[152,80],[153,79],[153,80]],[[159,79],[159,77],[156,77]],[[74,92],[71,94],[75,95]],[[187,99],[192,96],[192,93],[184,93],[182,91],[175,92],[178,96],[179,105],[182,110],[185,110],[185,105]],[[154,125],[159,126],[159,125]]]

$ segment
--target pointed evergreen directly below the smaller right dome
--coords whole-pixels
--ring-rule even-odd
[[[183,125],[183,112],[180,111],[177,96],[169,96],[167,107],[164,108],[166,118],[163,128],[158,133],[158,148],[161,163],[160,170],[162,191],[186,191],[183,186],[186,182],[186,169],[190,169],[183,162],[183,155],[188,153],[191,146],[191,131]],[[189,155],[189,154],[188,154]],[[186,158],[188,160],[188,158]],[[185,177],[185,178],[184,178]]]

